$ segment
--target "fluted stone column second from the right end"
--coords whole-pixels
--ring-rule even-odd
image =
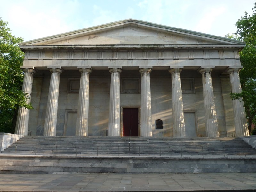
[[[214,103],[211,68],[201,68],[199,72],[202,74],[203,92],[204,92],[204,112],[205,127],[207,137],[219,137],[218,122],[216,117],[216,108]]]

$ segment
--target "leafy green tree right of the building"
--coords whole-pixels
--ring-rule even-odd
[[[240,71],[242,92],[231,94],[231,98],[244,101],[250,133],[252,123],[256,124],[256,3],[252,9],[252,16],[245,12],[244,17],[236,22],[236,33],[226,36],[246,42],[244,49],[240,52],[241,64],[244,66]]]

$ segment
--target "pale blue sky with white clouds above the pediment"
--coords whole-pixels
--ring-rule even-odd
[[[216,36],[236,32],[235,23],[255,0],[0,0],[0,17],[12,35],[29,41],[124,19]]]

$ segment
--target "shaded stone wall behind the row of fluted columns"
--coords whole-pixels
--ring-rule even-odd
[[[223,81],[220,78],[220,73],[218,70],[212,72],[218,130],[220,136],[231,136],[231,131],[234,131],[234,121],[232,121],[232,101],[228,99],[230,87],[227,82],[229,78]],[[121,79],[140,79],[140,76],[137,70],[123,70],[120,74]],[[184,78],[193,79],[195,90],[192,93],[182,94],[184,112],[195,113],[196,135],[206,136],[202,76],[197,70],[183,70],[181,72],[181,79]],[[78,107],[78,92],[68,91],[70,79],[76,79],[78,82],[76,82],[78,84],[76,86],[79,88],[79,71],[64,71],[60,75],[56,135],[65,135],[68,125],[73,126],[74,129],[76,128],[76,119],[73,119],[72,122],[67,122],[66,117],[69,112],[76,113]],[[34,109],[30,112],[28,128],[28,130],[32,131],[32,135],[43,135],[49,83],[49,71],[41,71],[41,74],[34,78],[31,97],[31,103]],[[171,74],[167,70],[153,70],[150,74],[150,83],[153,136],[173,136]],[[89,86],[89,136],[106,135],[109,118],[109,92],[109,71],[92,71]],[[140,93],[121,93],[120,106],[121,108],[129,106],[140,108]],[[163,120],[163,129],[156,129],[156,119]]]

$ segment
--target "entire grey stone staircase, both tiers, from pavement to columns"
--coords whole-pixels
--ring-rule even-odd
[[[0,154],[0,173],[256,172],[240,138],[25,136]]]

